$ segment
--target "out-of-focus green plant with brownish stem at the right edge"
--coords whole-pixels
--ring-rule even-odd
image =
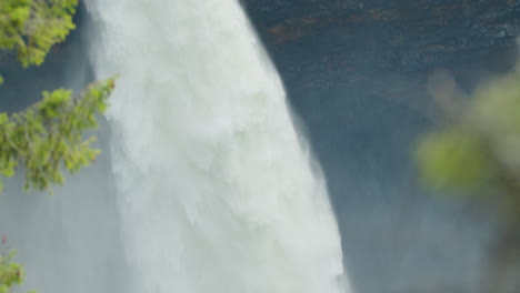
[[[423,181],[498,211],[501,224],[490,245],[483,286],[489,293],[504,292],[511,281],[506,276],[520,261],[520,71],[466,98],[444,77],[433,95],[448,122],[419,143]]]

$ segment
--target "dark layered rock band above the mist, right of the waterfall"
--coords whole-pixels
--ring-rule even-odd
[[[519,0],[244,0],[280,69],[416,71],[511,51]]]

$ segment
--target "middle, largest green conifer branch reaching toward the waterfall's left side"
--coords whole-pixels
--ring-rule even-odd
[[[26,172],[26,189],[49,190],[63,184],[61,166],[76,172],[92,162],[99,150],[83,132],[98,125],[96,113],[107,108],[114,81],[91,84],[79,98],[68,90],[43,92],[43,100],[23,112],[0,114],[0,174]]]

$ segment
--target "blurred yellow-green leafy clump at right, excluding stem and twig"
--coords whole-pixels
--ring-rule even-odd
[[[507,194],[520,203],[520,73],[478,89],[452,123],[424,135],[417,149],[421,175],[430,185]],[[496,194],[498,194],[496,192]]]

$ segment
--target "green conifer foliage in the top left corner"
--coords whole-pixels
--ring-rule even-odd
[[[78,0],[2,0],[0,50],[16,51],[23,67],[39,65],[51,47],[76,28]]]

